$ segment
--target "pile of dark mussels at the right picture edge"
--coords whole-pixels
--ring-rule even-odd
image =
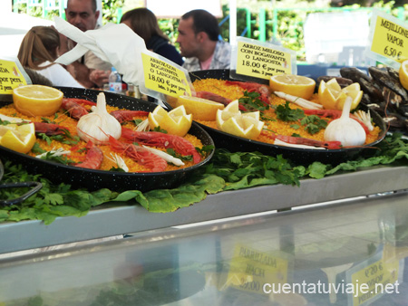
[[[408,91],[392,67],[369,67],[368,74],[355,67],[340,69],[342,83],[358,82],[364,91],[361,103],[375,110],[389,124],[391,130],[408,131]],[[333,77],[323,76],[320,80]]]

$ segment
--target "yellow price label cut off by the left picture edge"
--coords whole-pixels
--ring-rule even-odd
[[[13,89],[27,84],[19,64],[14,61],[0,60],[0,94],[13,94]]]

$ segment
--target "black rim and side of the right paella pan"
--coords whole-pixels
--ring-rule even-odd
[[[229,81],[239,81],[230,78],[229,70],[208,70],[189,72],[191,81],[201,79],[219,79]],[[257,81],[257,80],[251,80]],[[263,83],[262,81],[259,81]],[[368,109],[361,105],[361,109],[367,111]],[[312,149],[312,148],[291,148],[284,146],[277,146],[260,142],[252,139],[244,139],[238,136],[234,136],[219,129],[212,129],[208,126],[199,123],[203,129],[209,132],[209,136],[214,140],[217,148],[227,148],[231,152],[253,152],[259,151],[265,155],[277,156],[282,155],[285,158],[290,159],[296,164],[307,165],[314,161],[320,161],[325,164],[338,164],[350,158],[355,158],[358,155],[364,157],[370,156],[374,153],[375,145],[382,141],[386,134],[386,124],[378,113],[374,110],[370,110],[371,117],[374,120],[375,125],[382,130],[378,139],[373,143],[358,148],[339,148],[339,149]]]

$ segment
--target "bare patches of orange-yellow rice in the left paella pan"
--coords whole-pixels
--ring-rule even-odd
[[[87,110],[91,110],[91,106],[89,105],[83,105],[83,107]],[[112,107],[110,105],[107,105],[106,109],[108,110],[108,112],[111,112],[112,110],[120,110],[119,108]],[[76,124],[78,120],[72,119],[65,112],[63,112],[63,110],[59,110],[57,112],[58,117],[56,119],[54,118],[54,116],[27,117],[23,115],[22,113],[18,112],[17,110],[15,110],[13,104],[9,104],[1,108],[0,112],[4,114],[5,116],[18,117],[18,118],[33,121],[33,122],[42,122],[44,121],[44,118],[46,118],[48,120],[55,121],[55,123],[63,126],[64,128],[67,128],[73,137],[78,136],[76,132]],[[146,120],[147,116],[137,116],[137,117],[134,117],[133,119],[134,120],[137,120],[137,119]],[[128,129],[134,129],[135,125],[131,122],[128,122],[124,124],[123,127],[128,128]],[[197,137],[187,134],[184,138],[188,139],[189,142],[195,148],[202,148],[202,143]],[[125,141],[125,139],[119,139],[119,140]],[[73,160],[76,163],[83,162],[85,155],[86,155],[86,153],[83,150],[83,148],[86,147],[86,142],[83,140],[80,140],[76,145],[64,144],[57,140],[53,140],[51,141],[50,144],[48,144],[44,139],[39,139],[39,138],[36,139],[36,142],[39,144],[40,148],[43,148],[45,151],[51,151],[57,148],[63,148],[64,150],[70,150],[71,154],[67,155],[66,157]],[[99,147],[102,149],[103,156],[104,156],[103,161],[102,161],[101,170],[110,170],[112,167],[118,167],[115,162],[109,159],[109,158],[112,158],[111,156],[111,153],[112,153],[113,155],[118,154],[125,161],[126,166],[129,167],[129,172],[151,172],[150,168],[144,167],[138,162],[133,161],[131,158],[128,158],[127,156],[125,156],[125,154],[121,154],[116,151],[113,151],[108,145],[99,146]],[[155,148],[155,147],[151,147],[151,148]],[[158,148],[158,149],[164,152],[166,151],[165,148]],[[30,151],[28,155],[34,157],[36,154]],[[183,167],[190,167],[194,165],[193,161],[183,160],[183,162],[185,165],[181,167],[174,166],[172,164],[168,164],[165,171],[176,170],[176,169],[180,169]]]

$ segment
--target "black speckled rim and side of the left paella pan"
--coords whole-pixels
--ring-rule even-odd
[[[63,91],[63,95],[66,98],[79,98],[92,101],[96,101],[97,95],[101,92],[67,87],[57,87],[57,89]],[[135,99],[112,92],[104,93],[106,103],[112,106],[128,110],[147,111],[152,111],[157,107],[157,104],[145,100]],[[196,122],[193,122],[191,125],[189,134],[200,139],[203,146],[214,146],[214,142],[209,137],[209,134],[199,127]],[[211,150],[206,158],[203,158],[203,160],[194,166],[172,171],[151,173],[115,172],[66,166],[44,159],[33,158],[1,146],[0,154],[2,157],[9,159],[16,164],[22,164],[27,172],[32,174],[42,174],[56,184],[70,184],[74,188],[87,188],[90,191],[100,188],[109,188],[113,191],[140,190],[146,192],[152,189],[180,186],[180,184],[184,182],[195,169],[203,166],[209,161],[214,154],[214,149]]]

